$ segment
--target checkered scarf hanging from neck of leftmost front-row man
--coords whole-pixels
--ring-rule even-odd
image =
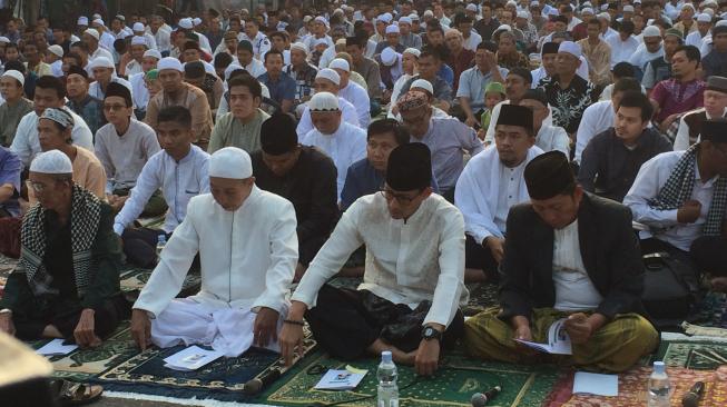
[[[73,277],[78,296],[82,297],[94,274],[91,247],[101,219],[101,201],[91,192],[73,185],[71,193],[70,235],[73,255]],[[50,287],[53,278],[46,270],[46,210],[36,205],[22,220],[20,231],[20,261],[17,272],[24,272],[36,296],[57,295]]]

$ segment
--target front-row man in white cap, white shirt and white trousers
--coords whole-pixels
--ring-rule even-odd
[[[276,350],[298,256],[295,209],[255,186],[250,157],[236,147],[212,156],[209,183],[212,193],[189,201],[134,305],[131,335],[141,349],[199,344],[228,357],[250,346]],[[197,251],[202,289],[175,299]]]

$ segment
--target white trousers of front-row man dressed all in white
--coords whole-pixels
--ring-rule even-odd
[[[205,345],[227,357],[236,357],[253,345],[255,317],[257,314],[249,309],[213,308],[190,298],[178,298],[151,319],[151,341],[160,348],[180,343],[186,346]],[[282,327],[281,317],[278,334]],[[269,343],[266,348],[281,351],[277,341]]]

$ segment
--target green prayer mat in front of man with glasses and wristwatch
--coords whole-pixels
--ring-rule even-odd
[[[358,387],[351,391],[316,390],[314,386],[327,369],[346,365],[367,369]],[[274,406],[301,406],[314,403],[342,403],[345,406],[372,406],[376,399],[376,358],[344,363],[316,351],[301,366],[283,376],[257,403]],[[501,386],[498,406],[539,407],[558,381],[553,365],[522,366],[482,363],[463,354],[445,354],[440,369],[431,378],[416,377],[413,368],[399,366],[399,395],[402,407],[471,406],[474,393]],[[351,400],[350,403],[346,403]]]

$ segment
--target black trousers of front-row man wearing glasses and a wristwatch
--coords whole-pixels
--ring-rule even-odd
[[[376,339],[406,353],[419,348],[422,324],[431,306],[431,301],[423,301],[412,310],[367,290],[324,285],[316,306],[306,311],[305,319],[325,350],[336,358],[352,360],[364,356]],[[458,310],[444,331],[442,347],[452,348],[463,334],[464,317]]]

